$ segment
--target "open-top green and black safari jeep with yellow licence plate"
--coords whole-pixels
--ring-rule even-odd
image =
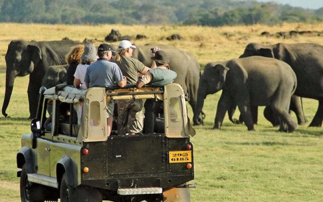
[[[56,86],[39,93],[32,132],[22,136],[17,154],[22,201],[190,201],[195,131],[180,85]],[[163,100],[154,133],[117,135],[114,124],[107,136],[106,102],[119,99]],[[51,128],[45,127],[47,110]]]

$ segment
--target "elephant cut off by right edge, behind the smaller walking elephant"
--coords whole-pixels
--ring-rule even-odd
[[[316,114],[309,126],[321,127],[323,121],[322,53],[323,46],[312,43],[277,43],[273,45],[249,43],[240,58],[263,56],[275,58],[289,64],[297,77],[295,95],[318,100]],[[300,104],[295,106],[298,112],[302,111]],[[299,115],[299,117],[301,118],[302,115]]]

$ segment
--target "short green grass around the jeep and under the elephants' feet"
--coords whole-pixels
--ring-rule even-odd
[[[23,85],[27,81],[28,77],[16,80],[8,109],[11,118],[0,118],[0,181],[10,184],[0,187],[0,198],[4,201],[19,201],[16,153],[21,134],[30,130]],[[263,118],[260,108],[256,131],[232,124],[227,117],[221,130],[213,130],[219,97],[220,92],[207,96],[203,108],[205,123],[194,127],[197,134],[191,138],[195,166],[192,182],[197,184],[196,189],[191,189],[191,201],[321,201],[322,128],[299,126],[293,133],[276,132],[278,128]],[[317,102],[305,99],[304,106],[311,120]],[[189,113],[191,117],[190,108]],[[237,112],[235,117],[238,115]]]

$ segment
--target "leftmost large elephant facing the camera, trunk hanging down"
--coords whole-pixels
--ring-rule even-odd
[[[36,115],[38,91],[42,78],[52,65],[66,64],[65,55],[72,46],[80,44],[78,41],[25,41],[13,40],[6,53],[6,92],[2,107],[2,114],[7,117],[13,85],[16,76],[30,74],[28,83],[29,119]]]

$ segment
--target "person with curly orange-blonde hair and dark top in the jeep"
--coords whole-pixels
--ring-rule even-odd
[[[69,65],[67,68],[67,85],[73,85],[74,74],[76,67],[81,63],[81,56],[84,52],[84,45],[79,44],[71,48],[71,52],[66,57],[66,62]]]

